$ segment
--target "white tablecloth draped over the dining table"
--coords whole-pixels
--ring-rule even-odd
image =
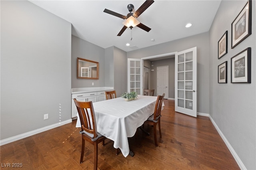
[[[118,97],[93,103],[98,132],[113,140],[114,148],[120,148],[122,154],[128,156],[128,137],[134,136],[137,128],[154,113],[156,99],[138,95],[138,99],[132,101]],[[76,127],[81,127],[79,116]]]

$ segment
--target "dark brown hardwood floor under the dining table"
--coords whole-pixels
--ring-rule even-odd
[[[161,117],[162,139],[154,145],[153,129],[138,130],[129,138],[134,157],[115,155],[113,142],[99,144],[100,170],[238,170],[240,169],[208,117],[197,118],[174,112],[174,101],[164,100]],[[84,162],[80,161],[81,135],[76,120],[9,144],[0,146],[0,169],[7,163],[22,163],[16,169],[93,169],[94,147],[86,142]],[[157,131],[158,137],[159,133]],[[17,164],[16,164],[17,165]]]

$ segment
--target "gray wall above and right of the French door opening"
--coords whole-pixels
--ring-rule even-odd
[[[197,108],[209,113],[209,33],[182,38],[127,52],[127,58],[143,58],[197,47]]]

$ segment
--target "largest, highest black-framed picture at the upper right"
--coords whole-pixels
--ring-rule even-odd
[[[252,34],[252,0],[248,0],[231,24],[231,48]]]

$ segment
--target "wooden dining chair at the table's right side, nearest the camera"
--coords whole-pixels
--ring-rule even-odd
[[[154,140],[155,140],[155,145],[158,146],[157,144],[157,138],[156,138],[156,125],[158,124],[158,129],[159,129],[159,134],[160,138],[162,138],[162,133],[161,133],[161,125],[160,125],[160,118],[161,118],[161,109],[162,109],[162,103],[164,101],[164,95],[162,96],[158,95],[156,99],[156,105],[155,105],[155,111],[154,114],[151,115],[147,120],[146,123],[149,125],[154,126]]]

